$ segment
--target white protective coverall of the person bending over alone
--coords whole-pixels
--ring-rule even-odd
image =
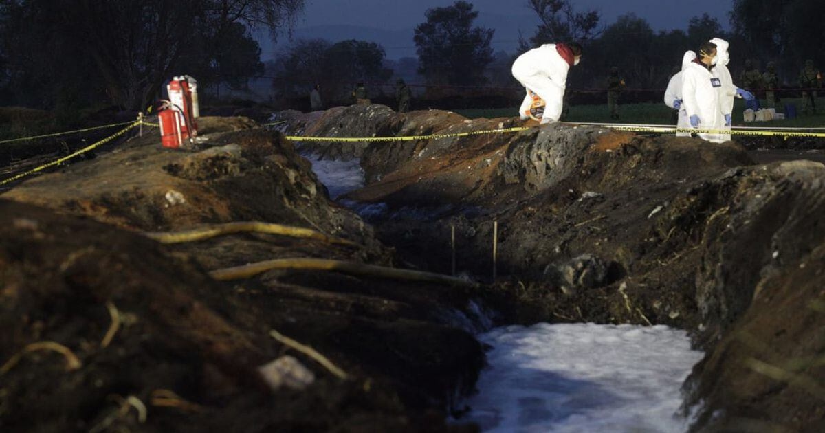
[[[533,104],[533,98],[530,97],[530,91],[533,91],[544,99],[541,123],[558,122],[562,116],[564,88],[567,87],[569,71],[570,64],[562,58],[555,44],[541,45],[521,54],[513,63],[512,73],[527,90],[519,107],[522,118]]]

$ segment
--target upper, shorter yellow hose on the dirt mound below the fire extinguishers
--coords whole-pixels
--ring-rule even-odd
[[[261,223],[261,222],[240,222],[228,224],[216,224],[203,228],[195,228],[183,232],[169,232],[169,233],[144,233],[148,238],[152,238],[161,243],[182,243],[182,242],[197,242],[205,239],[216,238],[233,233],[269,233],[278,234],[281,236],[288,236],[290,238],[309,238],[318,241],[337,243],[340,245],[347,245],[356,247],[356,242],[347,241],[347,239],[336,238],[334,236],[327,236],[326,234],[317,232],[309,228],[290,227],[281,224]]]

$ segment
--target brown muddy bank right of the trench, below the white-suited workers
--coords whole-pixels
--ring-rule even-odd
[[[446,134],[518,125],[434,113],[371,127],[427,124]],[[290,125],[359,136],[348,120],[328,113]],[[696,431],[821,430],[823,370],[811,360],[823,355],[821,339],[812,341],[822,317],[803,308],[822,302],[805,289],[821,286],[821,275],[800,269],[817,262],[825,240],[823,164],[773,151],[779,162],[761,165],[752,157],[764,161],[763,153],[734,142],[571,125],[360,152],[368,184],[347,199],[354,209],[384,206],[370,222],[405,260],[450,271],[455,228],[458,271],[493,282],[497,238],[496,289],[486,299],[501,323],[687,329],[708,353],[686,384]],[[736,337],[742,329],[752,346]],[[776,369],[754,367],[749,356]]]

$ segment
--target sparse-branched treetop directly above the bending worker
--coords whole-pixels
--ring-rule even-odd
[[[541,23],[529,44],[520,38],[522,52],[544,44],[592,40],[600,33],[601,14],[595,10],[576,12],[569,0],[528,0],[527,5]]]

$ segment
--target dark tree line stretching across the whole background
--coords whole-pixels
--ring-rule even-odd
[[[494,30],[476,26],[479,12],[460,0],[422,16],[417,59],[394,64],[371,41],[298,40],[265,68],[252,31],[277,37],[304,0],[0,0],[0,101],[67,113],[96,104],[139,110],[175,74],[189,73],[201,87],[244,87],[265,70],[284,99],[318,84],[326,100],[346,101],[355,82],[391,81],[394,68],[414,68],[416,81],[429,85],[517,87],[509,66],[518,54],[566,40],[585,47],[570,87],[603,88],[613,66],[628,87],[665,87],[682,54],[714,36],[731,42],[734,76],[746,59],[775,61],[789,83],[805,59],[825,65],[821,0],[734,0],[729,32],[707,14],[686,18],[685,30],[654,31],[634,14],[606,25],[570,0],[521,1],[539,25],[520,35],[516,53],[494,53]]]

